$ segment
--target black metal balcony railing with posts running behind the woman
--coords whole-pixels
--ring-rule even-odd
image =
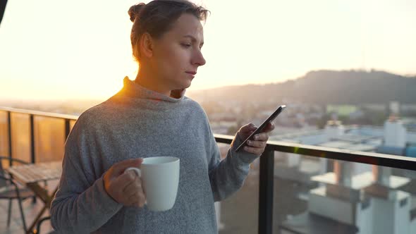
[[[30,161],[35,163],[37,159],[37,150],[35,149],[37,137],[35,137],[35,121],[37,118],[53,118],[61,120],[62,124],[62,142],[71,131],[71,126],[78,119],[78,116],[71,116],[59,113],[47,113],[42,111],[28,111],[23,109],[0,108],[0,120],[6,119],[3,123],[0,121],[0,154],[8,154],[13,158],[19,158],[15,152],[13,141],[17,133],[13,132],[13,115],[27,116],[28,135],[30,145]],[[3,129],[2,129],[3,128]],[[1,138],[6,133],[6,138]],[[231,144],[233,137],[229,135],[214,135],[216,142]],[[63,147],[63,144],[62,144]],[[2,148],[2,149],[1,149]],[[6,153],[4,149],[7,149]],[[3,150],[3,151],[1,151]],[[62,149],[63,150],[63,149]],[[258,194],[258,233],[272,233],[274,220],[274,176],[275,176],[275,152],[286,152],[290,154],[301,154],[312,156],[315,159],[334,159],[334,166],[338,182],[343,180],[343,171],[346,169],[341,165],[343,162],[353,162],[359,164],[370,164],[376,168],[389,167],[416,171],[416,158],[405,156],[394,156],[389,154],[376,154],[369,152],[355,152],[345,149],[332,149],[326,147],[316,147],[305,144],[293,144],[289,142],[269,141],[267,148],[259,159],[259,194]],[[61,155],[63,156],[63,154]],[[338,166],[337,166],[338,165]],[[340,166],[341,165],[341,166]],[[377,169],[375,170],[377,174]],[[373,171],[374,172],[374,171]],[[376,175],[377,176],[377,175]],[[416,216],[416,210],[410,212],[410,216]],[[415,217],[410,217],[415,218]]]

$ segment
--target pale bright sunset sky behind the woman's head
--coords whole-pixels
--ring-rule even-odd
[[[137,73],[128,8],[140,1],[8,1],[0,99],[104,99]],[[144,1],[149,2],[149,1]],[[310,70],[416,74],[416,1],[195,0],[207,63],[189,90],[264,84]]]

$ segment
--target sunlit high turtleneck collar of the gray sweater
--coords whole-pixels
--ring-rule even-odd
[[[130,80],[127,76],[123,80],[123,89],[121,90],[126,96],[133,99],[149,99],[157,101],[178,102],[184,97],[185,90],[174,90],[172,93],[178,98],[168,97],[159,92],[149,90],[142,85]]]

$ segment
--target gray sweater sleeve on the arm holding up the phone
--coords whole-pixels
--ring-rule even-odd
[[[243,142],[237,133],[233,142],[231,142],[226,158],[221,161],[219,147],[212,133],[211,136],[210,151],[212,158],[209,162],[209,181],[214,201],[218,202],[232,195],[243,186],[250,164],[257,159],[257,156],[243,150],[235,152],[240,142]]]

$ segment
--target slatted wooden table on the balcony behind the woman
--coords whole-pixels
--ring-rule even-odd
[[[14,179],[29,187],[30,190],[35,192],[35,195],[44,202],[44,207],[39,211],[39,214],[37,214],[35,220],[30,225],[30,228],[27,229],[27,233],[34,233],[33,228],[35,228],[36,223],[42,217],[44,211],[51,207],[52,199],[58,189],[58,186],[56,186],[54,191],[49,194],[47,187],[39,185],[39,182],[59,179],[62,173],[62,162],[52,161],[39,164],[11,166],[10,168],[7,168],[6,171],[8,171]]]

